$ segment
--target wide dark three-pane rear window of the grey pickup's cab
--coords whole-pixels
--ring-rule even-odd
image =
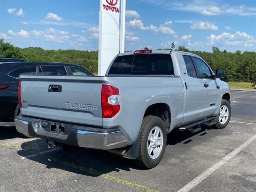
[[[132,54],[118,56],[108,75],[174,75],[170,54]]]

